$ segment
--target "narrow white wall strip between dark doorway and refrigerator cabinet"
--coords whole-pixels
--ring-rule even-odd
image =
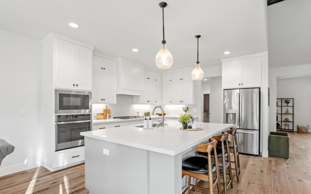
[[[222,77],[210,78],[209,113],[211,123],[223,123]]]

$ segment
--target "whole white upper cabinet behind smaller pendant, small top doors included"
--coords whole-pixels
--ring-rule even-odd
[[[163,104],[195,104],[192,70],[162,75]]]

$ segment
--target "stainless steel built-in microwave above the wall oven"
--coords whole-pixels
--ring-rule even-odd
[[[55,113],[92,113],[92,93],[55,90]]]

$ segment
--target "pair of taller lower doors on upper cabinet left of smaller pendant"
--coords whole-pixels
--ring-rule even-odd
[[[195,104],[193,81],[162,84],[163,104]]]

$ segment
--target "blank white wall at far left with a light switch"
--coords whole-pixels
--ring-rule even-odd
[[[40,42],[0,30],[0,69],[0,139],[15,146],[2,161],[3,176],[40,165]]]

